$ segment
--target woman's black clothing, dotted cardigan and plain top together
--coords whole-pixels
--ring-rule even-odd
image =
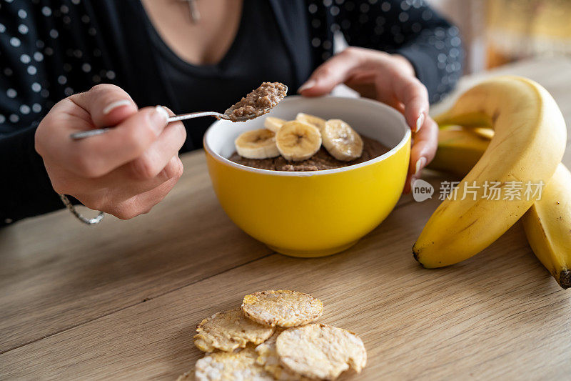
[[[458,29],[423,0],[246,0],[244,6],[228,54],[217,65],[195,66],[168,49],[139,0],[0,1],[0,225],[63,207],[34,150],[34,132],[55,102],[95,84],[121,86],[139,107],[224,110],[262,81],[297,89],[333,54],[335,32],[350,45],[407,57],[430,102],[461,74]],[[256,49],[244,44],[251,33],[264,36]],[[193,91],[228,81],[228,94]],[[209,122],[187,124],[183,151],[201,147]]]

